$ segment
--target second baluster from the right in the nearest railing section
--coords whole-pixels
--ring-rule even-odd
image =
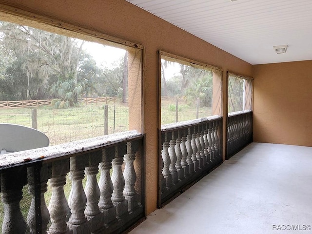
[[[116,146],[115,158],[112,161],[113,173],[112,182],[114,186],[112,194],[112,202],[116,206],[117,218],[128,214],[128,202],[122,194],[125,187],[125,179],[122,175],[121,166],[123,164],[123,156],[127,153],[126,143],[119,143]]]

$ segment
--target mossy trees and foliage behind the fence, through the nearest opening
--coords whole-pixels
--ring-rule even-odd
[[[85,43],[0,21],[0,100],[56,98],[58,108],[75,105],[79,96],[122,93],[126,100],[127,53],[113,66],[101,67],[83,49]]]

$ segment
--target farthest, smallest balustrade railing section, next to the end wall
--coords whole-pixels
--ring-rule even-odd
[[[227,159],[253,142],[253,112],[229,113],[227,126]]]

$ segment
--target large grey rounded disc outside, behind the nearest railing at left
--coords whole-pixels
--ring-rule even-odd
[[[12,153],[49,145],[42,132],[18,124],[0,123],[0,152]]]

